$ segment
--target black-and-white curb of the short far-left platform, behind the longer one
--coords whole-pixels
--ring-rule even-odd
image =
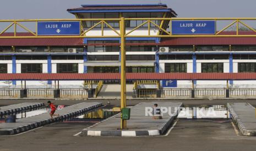
[[[39,107],[42,107],[42,106],[45,106],[45,104],[44,103],[37,103],[37,104],[30,105],[30,106],[8,109],[8,110],[5,110],[5,111],[1,111],[0,112],[0,117],[3,117],[4,115],[17,114],[17,113],[20,113],[21,111],[25,111],[27,109],[35,109],[35,108],[39,108]]]

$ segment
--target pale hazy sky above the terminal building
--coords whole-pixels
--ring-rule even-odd
[[[81,4],[150,4],[160,0],[0,0],[0,19],[74,18],[68,8]],[[179,18],[255,17],[255,0],[161,0]]]

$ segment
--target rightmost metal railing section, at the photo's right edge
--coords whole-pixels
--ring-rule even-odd
[[[235,96],[256,96],[256,88],[232,88],[230,97]]]

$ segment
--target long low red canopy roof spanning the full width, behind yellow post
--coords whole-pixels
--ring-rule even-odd
[[[0,80],[119,80],[120,73],[1,73]],[[127,80],[256,80],[256,73],[127,73]]]

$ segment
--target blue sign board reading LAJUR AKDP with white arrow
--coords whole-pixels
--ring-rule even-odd
[[[79,35],[79,21],[40,21],[37,23],[38,35]]]

